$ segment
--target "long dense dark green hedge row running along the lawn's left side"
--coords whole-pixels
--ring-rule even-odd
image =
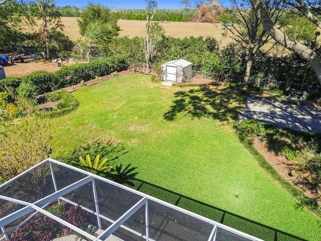
[[[55,73],[47,71],[35,71],[22,78],[9,77],[0,80],[0,92],[17,92],[21,83],[37,86],[36,94],[43,94],[56,89],[75,85],[81,81],[94,79],[96,76],[108,75],[114,71],[122,71],[128,68],[125,57],[115,55],[106,59],[96,59],[88,63],[62,66]],[[9,95],[11,95],[9,93]]]

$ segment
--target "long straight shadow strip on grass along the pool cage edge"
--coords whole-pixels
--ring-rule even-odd
[[[135,189],[173,205],[195,212],[266,241],[306,241],[306,239],[252,221],[218,207],[197,201],[168,189],[135,179]],[[301,206],[300,206],[301,207]],[[299,208],[299,207],[297,207]],[[302,207],[301,207],[302,208]],[[234,240],[234,239],[233,239]],[[238,239],[235,239],[238,240]],[[243,240],[243,239],[240,239]]]

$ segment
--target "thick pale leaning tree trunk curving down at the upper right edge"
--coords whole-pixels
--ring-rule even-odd
[[[266,12],[260,0],[250,0],[255,14],[260,19],[264,30],[279,44],[297,53],[305,59],[313,69],[316,77],[321,84],[321,60],[320,57],[311,49],[297,41],[289,39],[285,34],[278,30],[272,23],[270,16]]]

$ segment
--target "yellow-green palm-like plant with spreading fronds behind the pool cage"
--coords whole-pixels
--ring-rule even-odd
[[[75,161],[71,163],[80,169],[102,177],[106,177],[107,174],[117,174],[116,171],[112,170],[112,166],[107,164],[107,158],[100,160],[99,154],[96,156],[94,162],[91,161],[89,155],[86,155],[86,159],[80,156],[79,161],[80,163]]]

